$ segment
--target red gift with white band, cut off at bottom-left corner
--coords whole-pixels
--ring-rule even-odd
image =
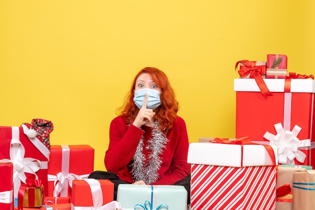
[[[0,163],[0,209],[14,209],[12,163]]]

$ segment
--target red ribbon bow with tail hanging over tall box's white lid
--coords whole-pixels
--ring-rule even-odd
[[[267,96],[273,95],[262,77],[263,74],[266,74],[266,65],[256,66],[256,61],[241,60],[235,64],[235,71],[238,69],[239,63],[244,64],[238,70],[241,77],[250,75],[250,78],[254,78],[265,99],[267,99]]]

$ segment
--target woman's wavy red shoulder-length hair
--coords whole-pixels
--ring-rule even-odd
[[[175,98],[174,89],[171,87],[167,75],[154,67],[145,67],[141,69],[138,74],[134,77],[130,91],[125,97],[124,105],[119,108],[119,115],[125,118],[126,122],[131,124],[136,118],[139,108],[133,102],[134,97],[134,87],[136,79],[142,73],[149,73],[152,80],[156,83],[158,87],[161,88],[161,105],[155,110],[155,119],[159,121],[161,125],[161,130],[167,132],[173,127],[176,121],[176,115],[179,109],[178,101]]]

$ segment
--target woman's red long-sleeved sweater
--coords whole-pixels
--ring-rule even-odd
[[[104,163],[107,171],[116,173],[120,179],[126,182],[133,182],[129,165],[141,136],[144,137],[144,148],[151,137],[150,127],[142,126],[142,129],[132,124],[128,127],[121,116],[113,119],[110,125],[110,142]],[[169,141],[161,155],[161,168],[157,171],[159,179],[151,184],[174,184],[190,173],[190,164],[187,163],[188,135],[185,121],[182,118],[177,116],[173,128],[167,133],[167,139]],[[145,149],[143,149],[143,154],[147,157]]]

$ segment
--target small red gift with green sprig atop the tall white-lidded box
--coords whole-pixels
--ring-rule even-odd
[[[287,56],[278,54],[267,55],[266,78],[285,79],[287,76]]]

